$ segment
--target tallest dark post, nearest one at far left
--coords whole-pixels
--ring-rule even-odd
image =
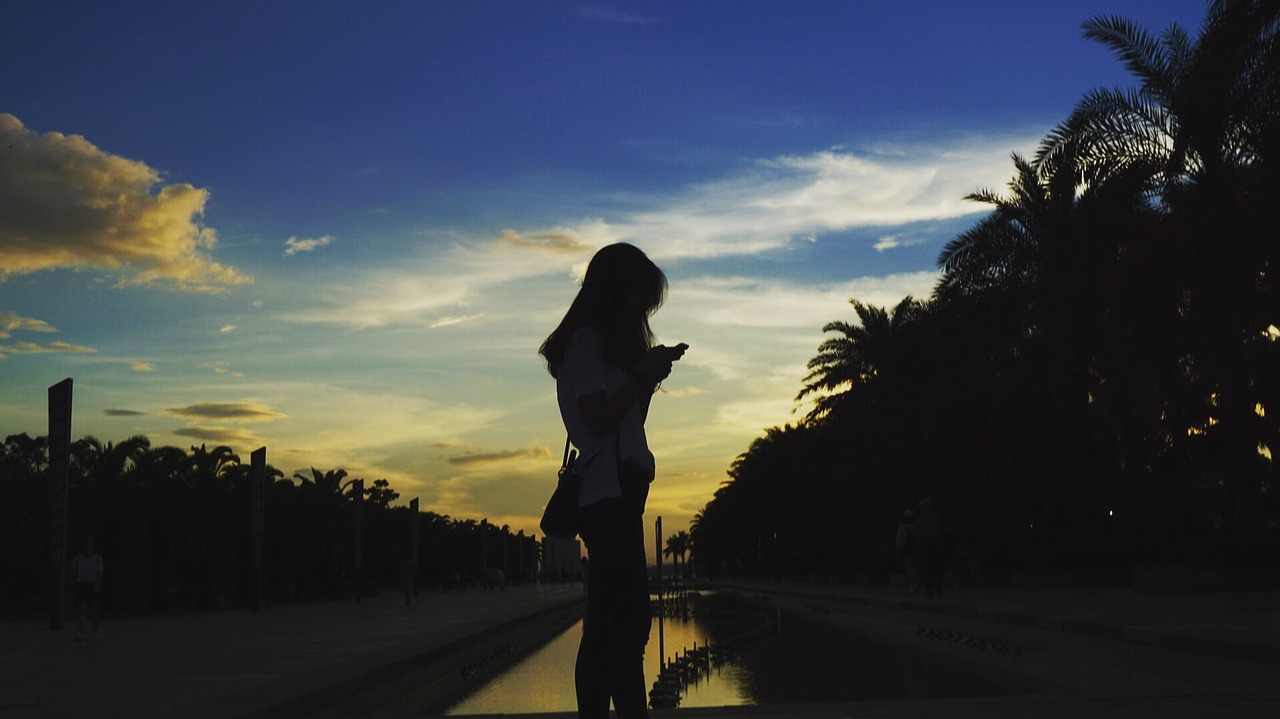
[[[67,592],[67,484],[72,454],[72,380],[49,388],[49,628],[63,628]]]

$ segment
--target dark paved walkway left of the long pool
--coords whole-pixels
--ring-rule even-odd
[[[584,601],[581,585],[422,592],[134,619],[100,640],[47,622],[0,622],[0,718],[297,716],[325,713],[396,672],[444,661],[539,613]],[[358,714],[355,709],[353,714]],[[338,713],[343,715],[343,713]]]

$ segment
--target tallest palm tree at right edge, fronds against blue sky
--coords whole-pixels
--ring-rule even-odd
[[[1069,154],[1089,178],[1149,178],[1179,258],[1167,279],[1183,293],[1197,371],[1212,380],[1236,540],[1252,523],[1258,466],[1247,347],[1270,321],[1277,280],[1267,269],[1280,260],[1271,220],[1277,27],[1280,5],[1267,0],[1211,3],[1196,38],[1176,24],[1157,38],[1124,18],[1088,20],[1085,37],[1115,51],[1139,84],[1089,92],[1037,159]]]

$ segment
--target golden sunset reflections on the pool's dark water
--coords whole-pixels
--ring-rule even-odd
[[[667,618],[663,620],[663,644],[667,659],[672,659],[685,647],[707,644],[710,633],[696,619],[684,620]],[[463,699],[445,711],[448,716],[466,714],[500,714],[515,711],[573,711],[577,709],[577,696],[573,692],[573,661],[577,659],[577,642],[582,637],[582,622],[564,631],[538,651],[530,654],[518,664],[495,677],[475,693]],[[649,647],[644,656],[644,673],[649,684],[658,676],[660,656],[658,655],[658,618],[653,620]],[[739,673],[726,664],[713,668],[710,677],[690,684],[680,706],[741,706],[750,697]]]

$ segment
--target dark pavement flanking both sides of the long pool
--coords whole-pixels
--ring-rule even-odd
[[[677,709],[654,716],[1280,718],[1280,592],[902,590],[739,583],[874,641],[941,656],[1039,693],[840,705]],[[72,629],[0,623],[0,719],[361,716],[460,677],[530,627],[554,629],[581,587],[424,594],[362,604],[138,618]],[[515,716],[515,715],[508,715]],[[532,715],[530,715],[532,716]],[[568,716],[568,714],[539,716]]]

